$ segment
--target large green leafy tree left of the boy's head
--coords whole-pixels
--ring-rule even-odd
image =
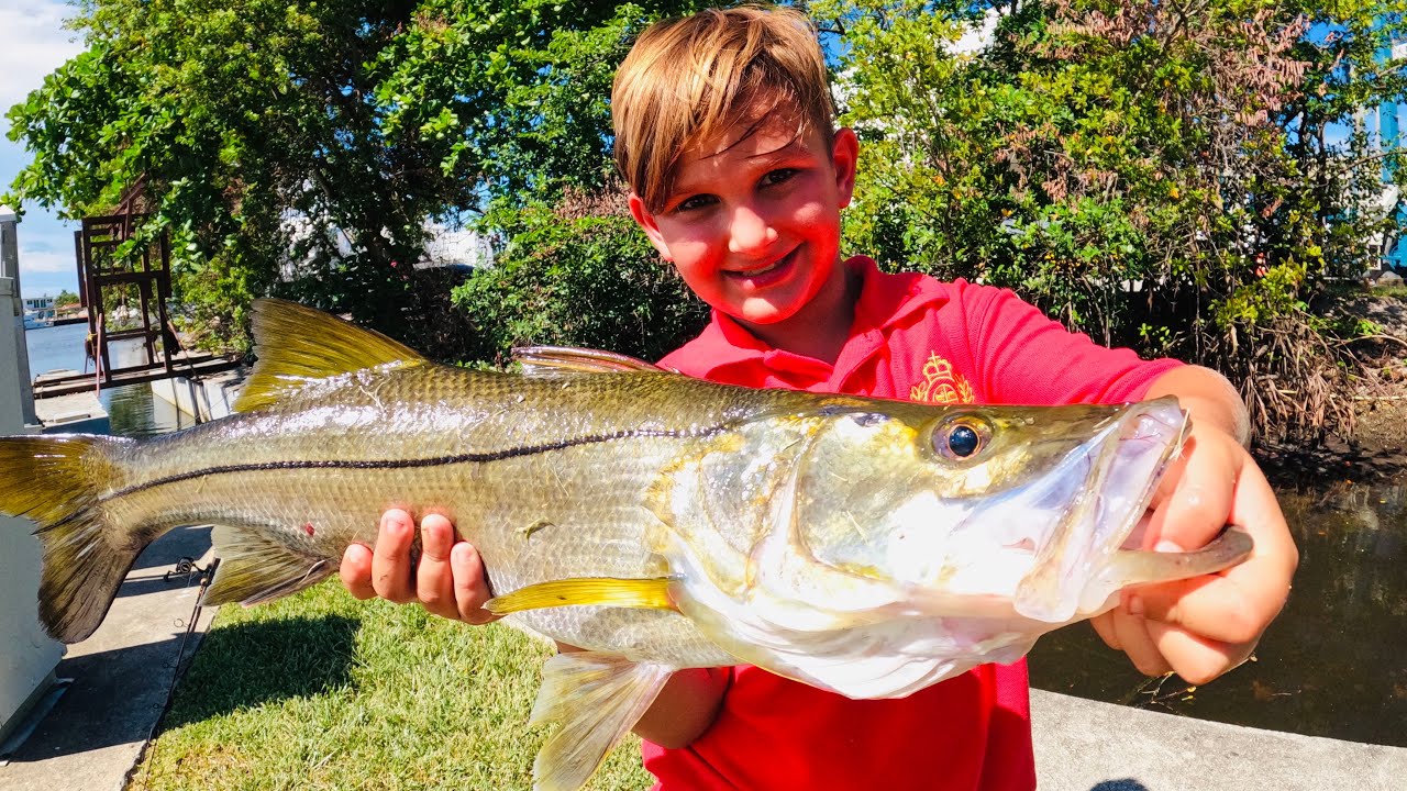
[[[609,75],[675,7],[93,0],[72,23],[87,51],[8,113],[34,156],[10,200],[134,198],[218,339],[265,293],[446,339],[446,293],[414,269],[426,222],[604,184]]]

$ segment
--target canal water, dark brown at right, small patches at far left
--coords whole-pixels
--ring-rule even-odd
[[[84,370],[86,327],[28,332],[30,370]],[[91,365],[89,369],[91,370]],[[113,434],[183,428],[145,386],[104,391]],[[189,419],[189,418],[187,418]],[[1407,479],[1282,490],[1300,549],[1255,660],[1204,687],[1145,678],[1088,624],[1031,652],[1033,685],[1199,719],[1407,747]]]

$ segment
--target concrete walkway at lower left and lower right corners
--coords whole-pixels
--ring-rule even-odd
[[[122,791],[156,725],[196,601],[180,557],[210,560],[208,532],[174,531],[138,559],[113,611],[69,647],[66,692],[0,766],[4,791]],[[208,626],[197,622],[187,656]],[[1313,739],[1031,692],[1043,791],[1403,791],[1407,749]],[[1404,723],[1407,728],[1407,723]],[[498,791],[498,790],[456,790]]]

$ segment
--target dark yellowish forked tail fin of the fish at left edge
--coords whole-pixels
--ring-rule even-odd
[[[114,477],[113,450],[129,442],[77,434],[0,436],[0,514],[38,522],[39,621],[65,643],[97,629],[145,546],[103,521],[100,494]]]

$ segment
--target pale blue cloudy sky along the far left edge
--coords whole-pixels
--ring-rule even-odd
[[[10,142],[4,111],[44,84],[44,76],[83,51],[63,20],[73,14],[56,0],[0,0],[0,193],[8,190],[28,152]],[[15,207],[18,208],[18,207]],[[77,291],[73,260],[76,225],[39,205],[25,205],[20,222],[20,289],[27,297]]]

